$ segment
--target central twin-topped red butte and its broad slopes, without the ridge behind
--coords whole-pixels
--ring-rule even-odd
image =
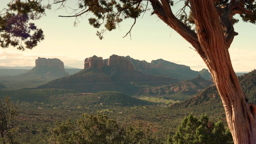
[[[156,76],[135,70],[130,60],[112,55],[108,60],[92,56],[84,60],[80,72],[53,80],[38,88],[62,88],[80,92],[119,91],[134,94],[146,86],[162,86],[178,82],[168,76]]]

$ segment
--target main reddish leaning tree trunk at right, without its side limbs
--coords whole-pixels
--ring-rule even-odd
[[[213,0],[190,0],[204,62],[218,89],[235,144],[256,144],[255,114],[232,68],[219,16]]]

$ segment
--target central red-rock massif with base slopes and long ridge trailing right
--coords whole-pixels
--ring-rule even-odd
[[[84,60],[84,70],[39,88],[65,88],[80,92],[112,90],[133,95],[148,87],[175,84],[184,79],[195,78],[198,74],[199,72],[191,70],[189,66],[162,59],[148,63],[130,56],[112,55],[104,60],[102,57],[92,56]],[[180,91],[178,87],[174,89],[173,91]]]

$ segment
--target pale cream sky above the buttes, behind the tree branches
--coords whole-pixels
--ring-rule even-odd
[[[1,0],[0,10],[8,2]],[[75,6],[74,0],[72,2],[70,6]],[[178,7],[174,7],[174,11],[176,9]],[[123,37],[130,30],[133,20],[124,20],[119,28],[106,32],[103,40],[96,36],[97,29],[88,24],[90,16],[79,18],[80,23],[74,27],[75,18],[61,18],[59,15],[68,13],[65,10],[54,11],[53,7],[46,11],[46,16],[33,21],[38,28],[42,28],[45,39],[32,50],[0,48],[0,66],[35,66],[35,60],[40,57],[58,58],[65,66],[84,68],[85,58],[96,55],[106,59],[116,54],[147,62],[162,58],[190,66],[196,71],[208,69],[197,52],[191,49],[191,44],[156,15],[150,16],[150,11],[136,20],[131,38],[129,35]],[[233,68],[236,72],[250,72],[256,68],[256,25],[240,20],[234,28],[238,36],[229,48]]]

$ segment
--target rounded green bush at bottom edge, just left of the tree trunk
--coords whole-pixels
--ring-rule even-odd
[[[170,140],[169,140],[170,141]],[[232,144],[230,131],[225,130],[222,121],[209,121],[207,115],[198,120],[192,114],[184,118],[173,136],[173,144]]]

